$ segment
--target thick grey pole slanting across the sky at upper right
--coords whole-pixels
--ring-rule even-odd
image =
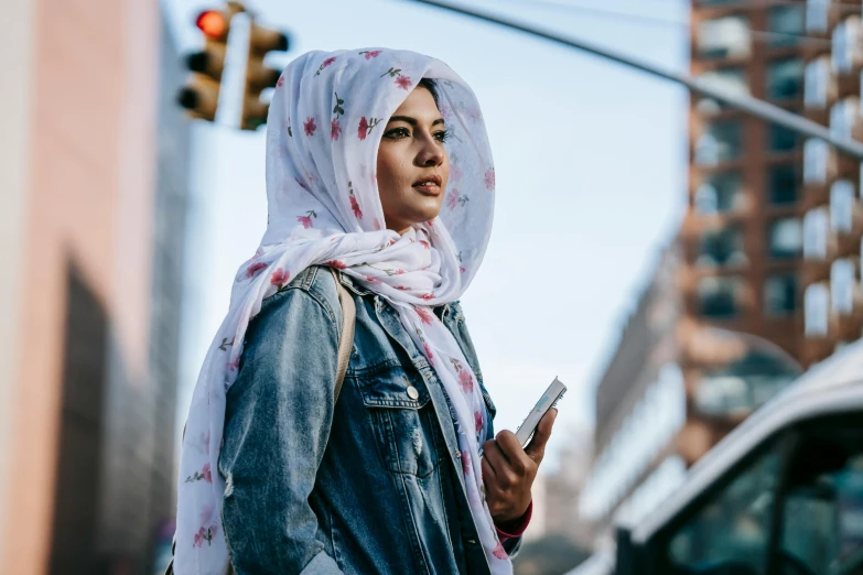
[[[702,96],[706,96],[720,100],[732,108],[737,108],[738,110],[743,110],[744,112],[749,113],[756,118],[759,118],[768,122],[777,123],[779,126],[788,128],[789,130],[801,133],[803,135],[823,140],[829,144],[835,147],[837,150],[844,152],[855,158],[856,160],[863,161],[863,143],[857,142],[855,140],[835,138],[833,134],[830,133],[830,130],[828,128],[821,126],[820,123],[816,123],[811,120],[808,120],[802,116],[791,113],[787,110],[784,110],[783,108],[779,108],[778,106],[774,106],[773,104],[766,102],[764,100],[759,100],[758,98],[753,98],[752,96],[747,96],[745,94],[732,94],[732,93],[723,91],[710,86],[710,84],[704,82],[703,79],[692,77],[689,74],[680,74],[676,72],[661,69],[657,66],[654,66],[652,64],[648,64],[646,62],[639,62],[636,58],[632,58],[629,56],[618,54],[614,51],[610,51],[596,46],[589,42],[574,40],[563,34],[560,34],[558,32],[546,30],[541,26],[537,26],[533,24],[518,22],[509,18],[501,18],[499,15],[490,14],[488,12],[484,12],[481,10],[463,8],[460,6],[450,4],[447,2],[441,2],[438,0],[412,0],[412,1],[421,4],[443,8],[444,10],[450,10],[451,12],[456,12],[472,18],[477,18],[486,22],[492,22],[494,24],[499,24],[513,30],[526,32],[535,36],[539,36],[546,40],[550,40],[552,42],[557,42],[558,44],[563,44],[564,46],[573,47],[575,50],[581,50],[582,52],[589,52],[596,56],[611,59],[613,62],[617,62],[618,64],[623,64],[625,66],[629,66],[632,68],[646,72],[647,74],[651,74],[654,76],[658,76],[664,79],[682,84],[683,86],[686,86],[687,88],[689,88],[695,94],[700,94]]]

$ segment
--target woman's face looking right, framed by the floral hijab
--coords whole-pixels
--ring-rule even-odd
[[[387,228],[403,234],[438,216],[450,177],[443,118],[431,93],[418,87],[384,130],[378,150],[378,191]]]

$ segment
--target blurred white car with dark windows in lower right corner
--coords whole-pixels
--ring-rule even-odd
[[[568,575],[863,575],[863,341],[737,426],[614,555]]]

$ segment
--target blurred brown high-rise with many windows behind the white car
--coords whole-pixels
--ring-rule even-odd
[[[691,14],[693,76],[863,139],[860,0]],[[694,95],[689,142],[689,209],[597,387],[581,511],[605,533],[863,328],[860,162]]]

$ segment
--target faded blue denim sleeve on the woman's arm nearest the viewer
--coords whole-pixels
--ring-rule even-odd
[[[219,457],[223,524],[237,575],[342,573],[324,552],[309,506],[335,406],[334,313],[289,288],[263,303],[247,330]]]

